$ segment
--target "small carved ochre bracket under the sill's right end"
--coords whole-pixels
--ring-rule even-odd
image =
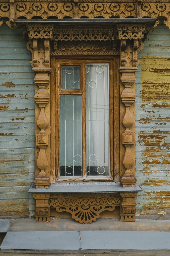
[[[121,205],[120,205],[120,220],[121,221],[135,221],[136,214],[136,202],[135,198],[137,193],[120,193]]]

